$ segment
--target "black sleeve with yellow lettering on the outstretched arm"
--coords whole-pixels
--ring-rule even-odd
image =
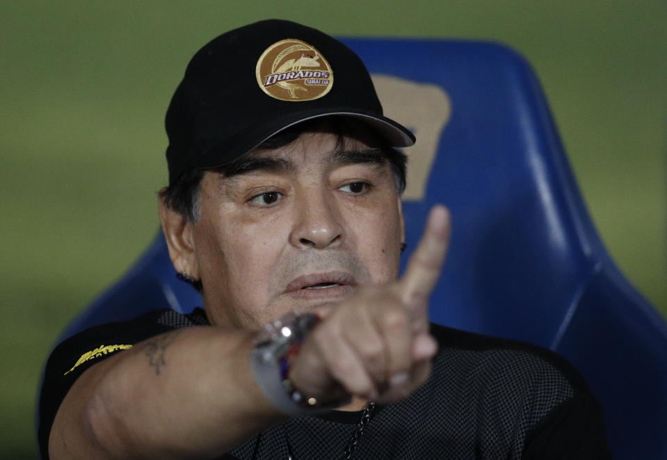
[[[172,331],[160,324],[164,310],[155,310],[128,322],[113,322],[87,329],[68,338],[51,352],[40,394],[38,442],[42,459],[48,459],[51,425],[65,395],[90,366],[130,349],[147,338]]]

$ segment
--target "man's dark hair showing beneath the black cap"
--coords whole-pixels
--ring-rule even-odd
[[[274,148],[284,147],[296,141],[296,139],[308,129],[318,129],[322,126],[330,127],[337,135],[337,146],[342,147],[345,136],[352,136],[360,132],[360,126],[355,124],[349,118],[330,116],[326,119],[314,119],[299,123],[293,127],[284,129],[283,131],[271,136],[261,143],[257,150],[268,150]],[[373,140],[378,143],[383,157],[389,162],[392,168],[392,175],[394,176],[394,184],[396,184],[396,191],[399,195],[405,190],[405,166],[407,164],[407,157],[405,154],[393,147],[389,147],[382,143],[378,136],[372,132]],[[231,161],[228,164],[214,168],[220,173],[233,170],[239,164],[243,157]],[[195,223],[200,219],[199,198],[200,185],[204,177],[204,169],[191,169],[182,174],[169,187],[164,187],[160,190],[159,196],[164,200],[166,206],[184,216],[188,222]]]

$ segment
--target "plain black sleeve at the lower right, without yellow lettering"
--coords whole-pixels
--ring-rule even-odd
[[[578,392],[527,434],[522,460],[608,460],[602,409],[593,395]]]

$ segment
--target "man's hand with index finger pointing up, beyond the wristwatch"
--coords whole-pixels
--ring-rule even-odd
[[[296,388],[325,401],[344,390],[392,402],[428,379],[437,351],[428,333],[428,296],[440,276],[449,232],[449,212],[433,207],[403,277],[360,287],[332,308],[291,363]]]

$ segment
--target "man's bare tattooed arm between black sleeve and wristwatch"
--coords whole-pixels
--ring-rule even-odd
[[[282,419],[252,377],[252,333],[187,328],[84,372],[51,429],[52,459],[213,457]]]

